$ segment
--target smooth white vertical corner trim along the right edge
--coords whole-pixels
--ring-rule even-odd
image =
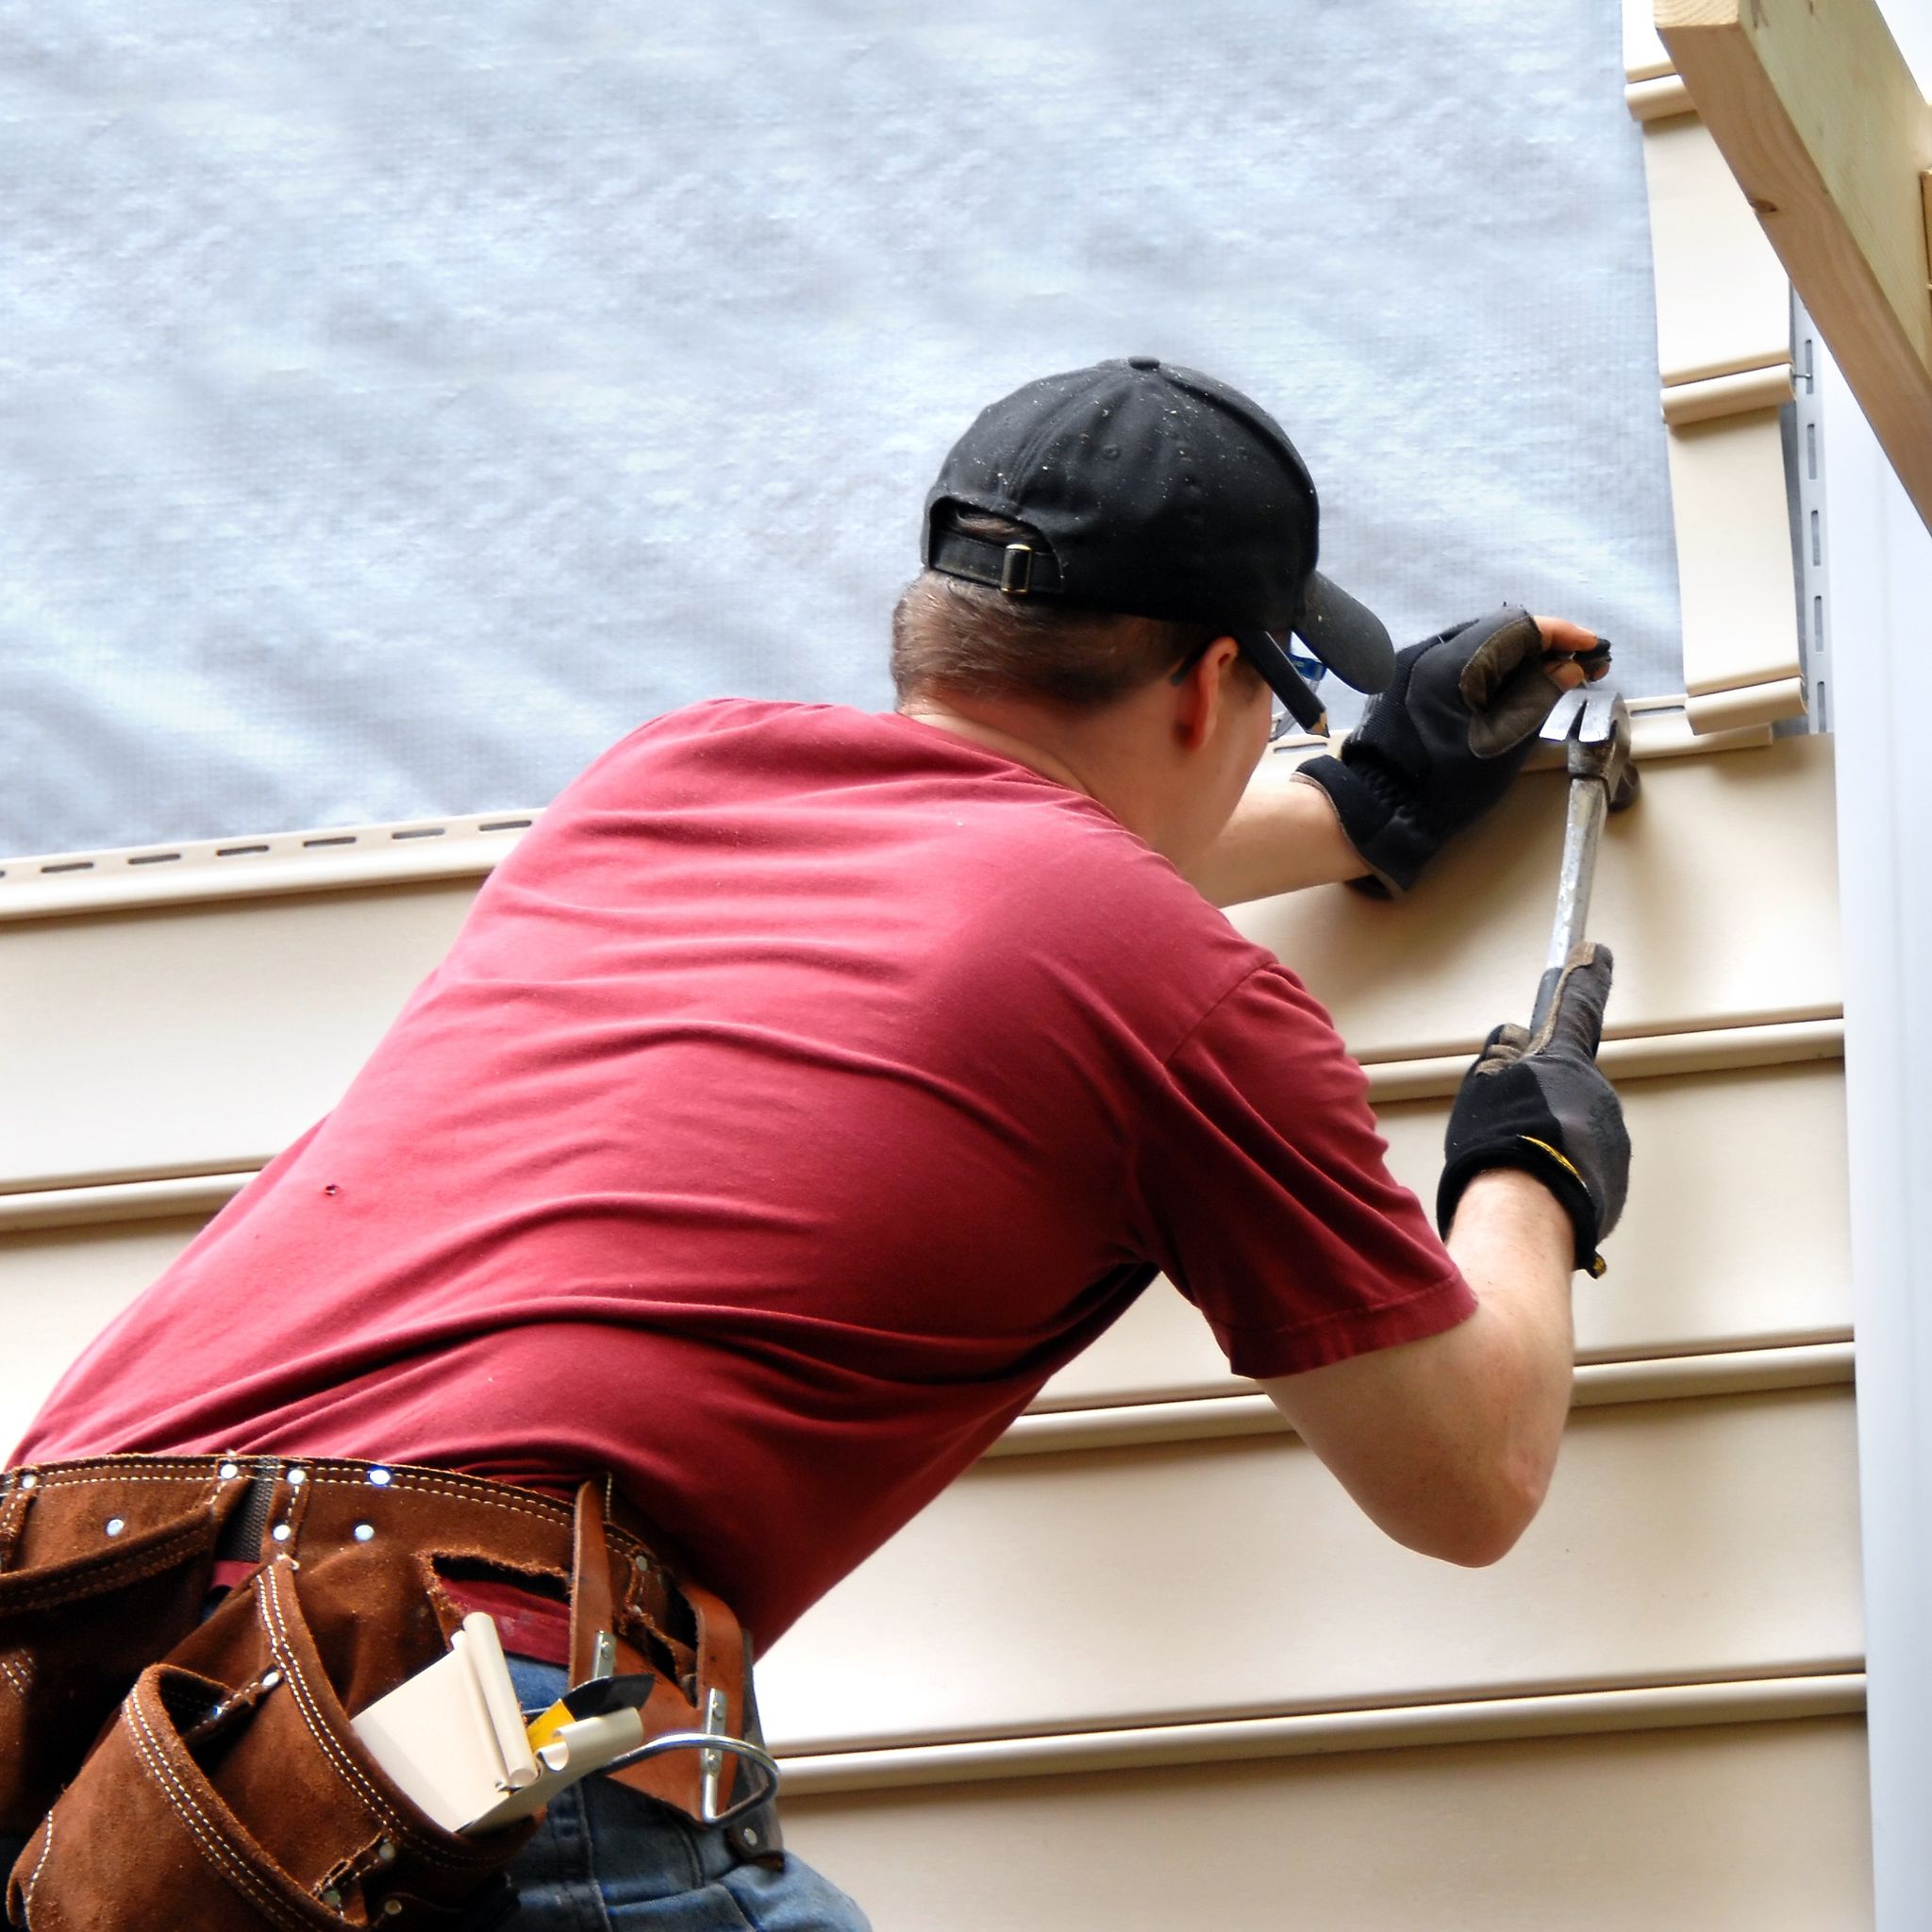
[[[1932,1924],[1932,539],[1824,342],[1845,1115],[1880,1932]]]

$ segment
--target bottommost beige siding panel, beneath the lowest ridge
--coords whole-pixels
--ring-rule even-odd
[[[804,1795],[786,1839],[877,1932],[1859,1932],[1862,1760],[1820,1718]]]

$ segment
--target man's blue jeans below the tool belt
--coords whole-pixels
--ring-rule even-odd
[[[556,1663],[510,1658],[531,1716],[564,1692]],[[734,1864],[721,1832],[611,1777],[554,1799],[510,1866],[520,1909],[504,1932],[869,1932],[866,1915],[810,1864]]]

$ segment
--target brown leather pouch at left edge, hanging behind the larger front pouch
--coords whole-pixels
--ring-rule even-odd
[[[156,1464],[158,1468],[160,1464]],[[100,1464],[118,1474],[110,1463]],[[243,1484],[0,1492],[0,1833],[31,1832],[141,1667],[193,1631]]]

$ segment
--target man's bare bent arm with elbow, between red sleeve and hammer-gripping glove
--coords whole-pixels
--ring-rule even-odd
[[[1476,1314],[1262,1387],[1368,1517],[1449,1563],[1505,1555],[1542,1507],[1569,1412],[1569,1215],[1530,1175],[1463,1194],[1449,1254]]]

